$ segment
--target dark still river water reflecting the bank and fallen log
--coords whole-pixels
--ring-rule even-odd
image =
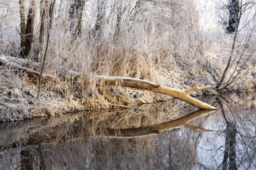
[[[256,169],[254,96],[1,123],[0,169]]]

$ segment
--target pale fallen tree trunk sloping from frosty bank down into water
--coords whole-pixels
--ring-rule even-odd
[[[26,62],[26,60],[23,59],[22,62]],[[18,69],[19,71],[24,71],[25,73],[28,73],[28,75],[32,75],[34,77],[39,77],[39,75],[40,75],[40,73],[37,71],[33,71],[32,69],[28,69],[26,67],[22,67],[13,62],[9,62],[8,58],[6,58],[4,56],[0,56],[0,65],[8,65],[10,67]],[[35,62],[34,65],[38,65],[38,63]],[[68,71],[67,75],[70,75],[71,77],[82,77],[84,79],[91,79],[91,78],[96,79],[96,80],[104,83],[104,85],[106,85],[107,87],[108,86],[122,86],[122,87],[131,87],[131,88],[135,88],[135,89],[153,91],[156,93],[162,93],[165,95],[170,95],[172,97],[177,97],[178,99],[181,99],[181,100],[183,100],[187,103],[190,103],[191,105],[194,105],[195,107],[203,109],[203,110],[216,110],[216,108],[213,107],[212,105],[209,105],[207,103],[199,101],[198,99],[195,99],[189,95],[189,93],[191,93],[193,91],[202,91],[203,89],[207,89],[212,86],[193,87],[191,89],[180,90],[180,89],[164,87],[157,83],[152,83],[152,82],[146,81],[146,80],[132,79],[132,78],[127,78],[127,77],[106,77],[106,76],[98,76],[98,75],[88,76],[88,75],[84,75],[82,73],[77,73],[75,71]],[[53,75],[43,75],[42,79],[59,82],[58,77],[55,77]]]

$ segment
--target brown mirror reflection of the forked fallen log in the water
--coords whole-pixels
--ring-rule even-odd
[[[106,128],[105,134],[106,134],[106,136],[113,137],[113,138],[134,138],[134,137],[139,137],[139,136],[148,136],[148,135],[152,135],[152,134],[158,134],[165,130],[171,130],[174,128],[182,128],[182,127],[189,128],[192,130],[211,131],[211,130],[205,130],[200,127],[191,126],[188,123],[191,122],[192,120],[195,120],[202,116],[206,116],[207,114],[211,114],[213,112],[215,112],[215,111],[199,110],[197,112],[193,112],[192,114],[189,114],[189,115],[179,118],[177,120],[172,120],[170,122],[166,122],[163,124],[156,124],[153,126],[129,128],[129,129]]]

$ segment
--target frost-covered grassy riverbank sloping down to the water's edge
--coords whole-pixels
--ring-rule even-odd
[[[168,58],[169,65],[156,64],[150,72],[152,77],[145,77],[166,87],[189,89],[195,86],[216,85],[216,77],[220,77],[218,68],[209,68],[189,60],[181,61]],[[207,63],[207,62],[205,62]],[[195,64],[195,65],[193,65]],[[193,65],[193,69],[191,69]],[[147,68],[147,66],[144,66]],[[34,68],[36,69],[36,68]],[[38,67],[38,71],[39,67]],[[216,72],[211,72],[216,71]],[[46,73],[54,73],[48,69]],[[252,73],[255,74],[255,73]],[[131,108],[143,103],[154,103],[172,99],[167,95],[152,93],[124,87],[96,87],[96,82],[83,79],[66,79],[63,75],[55,75],[59,82],[44,81],[40,99],[37,77],[0,66],[0,122],[24,120],[44,116],[61,116],[70,112],[83,110],[102,110],[109,108]],[[245,81],[228,89],[234,92],[249,92],[255,90],[255,77],[247,76]],[[222,92],[228,92],[222,91]],[[217,95],[216,89],[196,91],[197,95]]]

